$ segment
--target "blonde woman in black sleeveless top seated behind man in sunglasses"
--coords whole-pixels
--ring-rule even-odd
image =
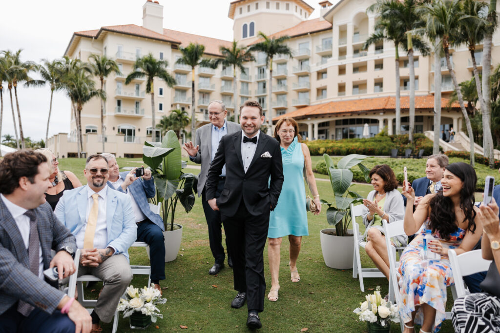
[[[62,196],[62,192],[80,187],[81,183],[71,171],[59,170],[57,167],[59,161],[57,161],[57,157],[55,157],[50,149],[41,148],[36,149],[36,151],[45,155],[50,166],[51,173],[48,180],[52,183],[52,187],[45,193],[45,199],[50,204],[50,207],[52,207],[52,210],[54,210],[57,202],[59,202],[59,198]]]

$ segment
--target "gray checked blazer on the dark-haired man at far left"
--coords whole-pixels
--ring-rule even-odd
[[[43,257],[43,269],[52,260],[50,250],[67,246],[76,251],[76,240],[44,203],[34,209]],[[36,250],[38,251],[38,250]],[[65,294],[29,270],[29,257],[17,224],[0,199],[0,315],[23,300],[51,314]]]

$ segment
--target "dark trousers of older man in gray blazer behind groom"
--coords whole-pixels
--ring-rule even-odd
[[[220,179],[215,191],[215,198],[220,196],[224,189],[225,180]],[[203,212],[205,213],[206,225],[208,226],[208,241],[210,242],[210,250],[212,251],[215,264],[223,264],[225,259],[224,248],[222,247],[222,221],[220,219],[220,212],[214,211],[206,202],[205,190],[201,192],[201,202],[203,205]],[[225,230],[225,228],[224,228]],[[227,256],[229,257],[229,246],[227,245],[227,235],[225,238],[225,247],[227,249]]]

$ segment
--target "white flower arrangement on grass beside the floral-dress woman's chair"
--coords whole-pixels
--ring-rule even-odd
[[[357,314],[360,322],[378,323],[388,326],[390,322],[399,323],[397,305],[386,302],[380,295],[380,286],[376,287],[373,294],[365,296],[365,301],[359,303],[359,308],[353,312]]]

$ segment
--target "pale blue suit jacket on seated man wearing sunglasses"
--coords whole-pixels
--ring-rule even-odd
[[[87,211],[87,186],[64,191],[55,206],[59,221],[76,235],[85,224]],[[107,246],[116,249],[128,259],[128,248],[137,238],[137,225],[130,197],[108,189],[106,195]]]

